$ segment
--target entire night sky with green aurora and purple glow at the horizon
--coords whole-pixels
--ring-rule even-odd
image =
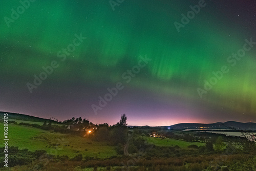
[[[256,122],[256,1],[22,1],[1,2],[0,111]]]

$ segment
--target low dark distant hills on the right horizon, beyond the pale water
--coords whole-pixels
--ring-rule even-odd
[[[228,121],[228,122],[217,122],[217,123],[179,123],[170,126],[172,129],[182,130],[182,129],[205,129],[205,130],[212,130],[212,129],[236,129],[236,130],[256,130],[256,123],[253,122],[235,122],[235,121]]]

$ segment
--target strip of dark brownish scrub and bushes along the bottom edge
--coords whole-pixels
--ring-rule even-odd
[[[112,156],[108,159],[47,155],[45,151],[29,152],[11,147],[9,159],[12,170],[255,170],[256,160],[252,154],[199,154],[185,153],[179,157],[159,157],[153,154]],[[153,147],[155,151],[159,148]],[[2,149],[1,149],[2,150]],[[163,149],[162,149],[163,150]],[[177,153],[180,153],[177,152]],[[176,154],[177,154],[176,153]],[[161,156],[161,155],[160,155]],[[3,163],[3,161],[1,161]]]

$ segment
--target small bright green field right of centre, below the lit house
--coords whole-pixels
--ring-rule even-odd
[[[147,140],[148,143],[153,143],[156,146],[175,146],[178,145],[181,148],[188,148],[189,145],[197,145],[197,146],[203,146],[205,143],[202,142],[187,142],[187,141],[181,141],[176,139],[169,139],[169,138],[155,138],[155,137],[143,137]]]

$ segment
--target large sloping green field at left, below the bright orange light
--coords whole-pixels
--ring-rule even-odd
[[[4,139],[4,124],[0,123],[0,134]],[[115,147],[106,143],[95,142],[90,138],[83,138],[71,134],[60,134],[44,131],[34,127],[9,124],[9,146],[18,146],[20,149],[28,148],[30,151],[44,149],[48,154],[108,158],[116,154]],[[1,143],[0,147],[4,144]]]

